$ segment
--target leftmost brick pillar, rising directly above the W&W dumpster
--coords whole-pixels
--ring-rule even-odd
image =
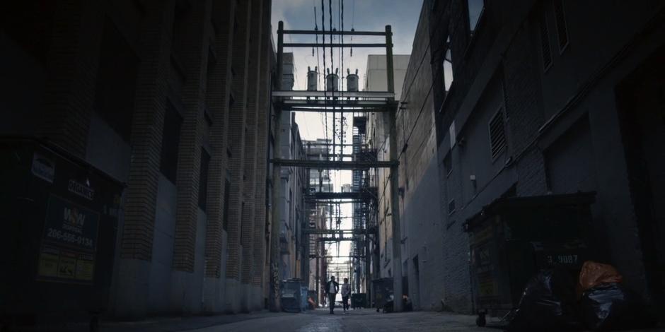
[[[59,2],[52,18],[39,135],[84,158],[95,99],[103,12],[100,1]]]

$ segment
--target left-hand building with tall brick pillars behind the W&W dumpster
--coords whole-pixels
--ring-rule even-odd
[[[1,134],[46,138],[127,184],[112,315],[264,307],[270,11],[270,0],[2,5]]]

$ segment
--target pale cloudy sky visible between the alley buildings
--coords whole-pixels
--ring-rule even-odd
[[[386,25],[391,25],[393,31],[393,54],[411,54],[413,36],[415,35],[416,25],[420,17],[422,0],[323,0],[325,6],[325,30],[330,30],[330,8],[332,2],[332,28],[342,30],[340,22],[343,14],[344,30],[355,31],[385,31]],[[344,10],[340,9],[344,7]],[[315,8],[316,7],[316,8]],[[315,15],[316,12],[316,15]],[[316,17],[316,22],[315,22]],[[279,21],[284,22],[285,30],[322,30],[321,22],[321,0],[272,0],[272,34],[274,42],[277,43],[277,26]],[[326,43],[330,42],[330,36],[326,35]],[[337,38],[337,37],[336,37]],[[316,42],[314,35],[285,35],[284,42]],[[353,37],[344,36],[344,42],[369,42],[383,43],[383,36],[371,37]],[[318,42],[321,42],[321,36],[318,36]],[[340,40],[333,40],[340,42]],[[314,51],[314,56],[312,52]],[[319,90],[323,90],[323,49],[312,48],[284,48],[284,52],[294,53],[294,90],[306,90],[307,67],[314,69],[319,67]],[[366,63],[368,54],[386,54],[383,48],[365,48],[365,49],[347,49],[343,52],[335,49],[332,53],[332,63],[335,68],[340,68],[343,76],[346,76],[347,68],[352,72],[358,69],[359,87],[364,86],[364,73],[366,72]],[[343,58],[343,59],[342,59]],[[325,67],[330,68],[330,48],[325,49]],[[344,63],[342,69],[342,60]],[[342,76],[342,83],[345,83]],[[350,114],[349,114],[350,115]],[[316,138],[332,138],[332,115],[328,115],[328,131],[325,130],[325,118],[323,114],[317,113],[296,113],[296,123],[300,129],[301,138],[304,140],[316,140]],[[339,121],[339,117],[337,117]],[[345,127],[345,142],[351,141],[352,119],[349,116]],[[327,134],[327,135],[326,135]],[[345,153],[351,153],[345,150]],[[350,171],[332,172],[332,182],[335,191],[340,191],[342,184],[351,182]],[[343,205],[343,215],[351,215],[350,204]],[[342,222],[342,229],[351,228],[351,220]],[[337,247],[332,245],[330,249],[333,255],[340,251],[340,255],[348,254],[349,242],[341,242]],[[340,261],[340,260],[335,260]],[[342,260],[343,261],[343,260]],[[341,275],[340,275],[341,276]]]

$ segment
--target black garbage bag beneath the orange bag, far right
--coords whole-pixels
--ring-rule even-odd
[[[620,283],[586,290],[579,301],[586,327],[594,331],[649,328],[656,324],[640,295]]]

